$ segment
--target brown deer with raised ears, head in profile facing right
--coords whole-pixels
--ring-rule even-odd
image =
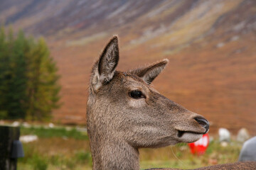
[[[87,98],[87,134],[93,170],[139,170],[139,149],[196,142],[209,130],[202,115],[161,95],[151,82],[169,60],[127,72],[116,70],[116,35],[92,67]],[[255,162],[238,162],[203,169],[256,169]]]

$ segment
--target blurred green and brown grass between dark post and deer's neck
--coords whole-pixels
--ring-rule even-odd
[[[64,127],[21,127],[21,135],[38,135],[39,140],[23,143],[25,157],[18,159],[19,170],[91,169],[86,132]]]

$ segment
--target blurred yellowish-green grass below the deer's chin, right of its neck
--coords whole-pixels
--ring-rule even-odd
[[[226,164],[238,161],[241,147],[238,142],[230,142],[227,147],[222,147],[215,140],[210,142],[206,153],[201,156],[191,154],[188,145],[184,143],[159,149],[141,149],[140,165],[141,169],[196,169],[213,164]]]

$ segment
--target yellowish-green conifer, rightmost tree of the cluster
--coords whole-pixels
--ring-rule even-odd
[[[49,55],[45,40],[41,38],[33,47],[30,57],[27,118],[47,119],[53,108],[58,108],[58,69]]]

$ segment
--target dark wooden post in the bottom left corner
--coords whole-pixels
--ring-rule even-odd
[[[11,147],[20,135],[19,127],[0,126],[0,169],[16,170],[17,159],[11,159]]]

